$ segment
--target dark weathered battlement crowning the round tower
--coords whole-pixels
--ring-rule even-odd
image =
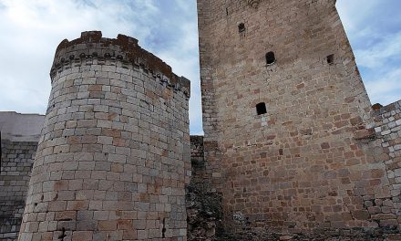
[[[106,38],[100,31],[82,32],[81,37],[72,41],[64,39],[57,47],[50,77],[53,81],[63,70],[96,64],[142,69],[160,84],[182,91],[190,98],[190,80],[177,76],[163,60],[139,47],[136,38],[124,35]]]

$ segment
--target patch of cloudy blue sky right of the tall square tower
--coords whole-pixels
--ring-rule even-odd
[[[401,27],[396,24],[401,17],[390,15],[397,5],[397,0],[337,1],[369,97],[383,105],[401,99]]]

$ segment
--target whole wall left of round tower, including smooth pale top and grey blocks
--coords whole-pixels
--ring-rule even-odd
[[[0,240],[18,236],[43,119],[40,115],[0,112]]]

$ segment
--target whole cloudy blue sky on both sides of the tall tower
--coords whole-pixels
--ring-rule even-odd
[[[337,7],[372,103],[400,100],[401,1]],[[196,0],[0,0],[0,111],[45,113],[56,47],[86,30],[136,37],[191,79],[190,132],[202,132]]]

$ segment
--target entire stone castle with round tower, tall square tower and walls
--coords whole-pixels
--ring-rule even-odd
[[[138,40],[64,40],[46,116],[0,113],[0,240],[401,240],[401,101],[371,105],[335,0],[198,15],[204,137]]]

